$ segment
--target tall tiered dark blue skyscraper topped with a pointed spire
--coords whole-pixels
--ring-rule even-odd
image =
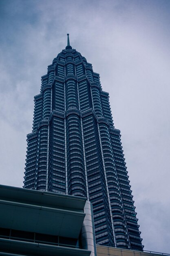
[[[142,250],[120,137],[99,74],[68,36],[35,96],[24,188],[86,197],[98,245]]]

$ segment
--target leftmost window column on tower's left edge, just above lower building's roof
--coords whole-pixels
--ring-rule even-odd
[[[36,149],[37,149],[37,136],[36,133],[27,135],[28,147],[26,151],[26,167],[24,177],[24,188],[34,189],[35,180],[35,160],[36,160]]]

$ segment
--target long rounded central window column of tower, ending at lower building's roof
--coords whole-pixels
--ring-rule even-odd
[[[71,113],[66,117],[68,194],[86,197],[86,178],[80,117]]]

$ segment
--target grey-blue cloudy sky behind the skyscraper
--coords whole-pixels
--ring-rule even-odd
[[[67,33],[110,94],[144,249],[170,253],[170,0],[0,0],[0,183],[23,185],[33,97]]]

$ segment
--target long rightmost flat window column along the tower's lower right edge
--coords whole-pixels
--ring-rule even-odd
[[[126,171],[126,163],[124,161],[125,159],[121,146],[120,131],[117,129],[111,129],[111,138],[131,249],[142,250],[142,239],[140,238],[141,232],[139,232],[139,225],[137,224],[138,219],[136,218],[134,201],[132,200],[133,196],[131,194],[132,191],[130,190]]]

